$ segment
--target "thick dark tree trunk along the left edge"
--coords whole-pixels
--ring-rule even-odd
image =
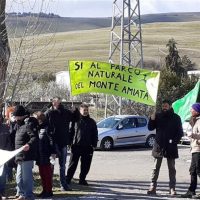
[[[5,24],[5,7],[6,0],[0,1],[0,105],[3,101],[4,90],[6,85],[6,71],[10,58],[10,47]]]

